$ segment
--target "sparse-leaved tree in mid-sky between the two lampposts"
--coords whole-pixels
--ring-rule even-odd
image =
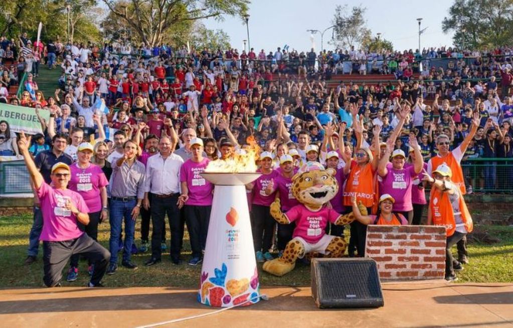
[[[348,13],[347,5],[338,5],[331,23],[334,27],[333,43],[338,48],[360,47],[366,35],[370,34],[365,20],[365,11],[362,6],[354,6]]]

